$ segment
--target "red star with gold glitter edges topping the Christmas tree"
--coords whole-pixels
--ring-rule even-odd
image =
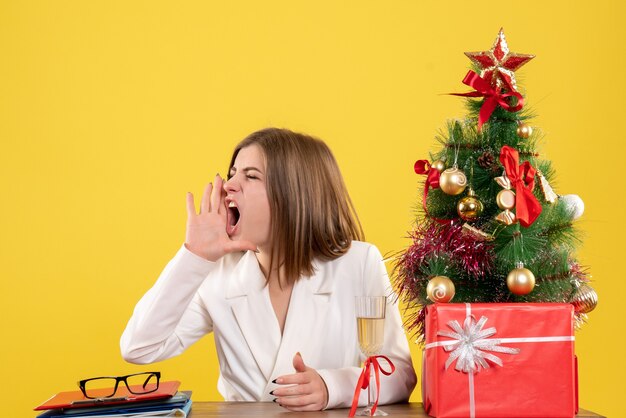
[[[534,55],[510,52],[502,29],[489,51],[466,52],[465,55],[482,68],[480,77],[493,87],[508,89],[511,86],[513,90],[517,90],[514,72],[535,58]]]

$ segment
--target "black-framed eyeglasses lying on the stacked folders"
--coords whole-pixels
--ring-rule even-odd
[[[120,382],[124,382],[128,391],[133,395],[143,395],[155,392],[159,388],[159,380],[161,380],[161,372],[144,372],[127,376],[84,379],[78,382],[78,387],[86,398],[110,398],[117,392]]]

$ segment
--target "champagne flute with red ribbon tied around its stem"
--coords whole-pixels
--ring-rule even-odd
[[[385,296],[357,296],[355,299],[356,321],[359,335],[359,347],[366,357],[375,356],[383,349],[385,333],[385,307],[387,298]],[[372,378],[373,367],[370,367],[370,375],[367,387],[367,407],[360,409],[356,415],[372,415],[374,406],[373,386],[375,380]],[[386,412],[376,408],[374,416],[385,416]]]

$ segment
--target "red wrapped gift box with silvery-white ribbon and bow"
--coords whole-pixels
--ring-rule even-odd
[[[438,418],[573,417],[573,313],[566,303],[428,306],[424,409]]]

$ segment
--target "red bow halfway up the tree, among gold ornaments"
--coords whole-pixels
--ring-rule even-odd
[[[533,194],[537,170],[528,161],[520,164],[519,153],[508,145],[500,150],[500,162],[515,189],[515,216],[523,227],[528,228],[542,210],[541,203]]]

